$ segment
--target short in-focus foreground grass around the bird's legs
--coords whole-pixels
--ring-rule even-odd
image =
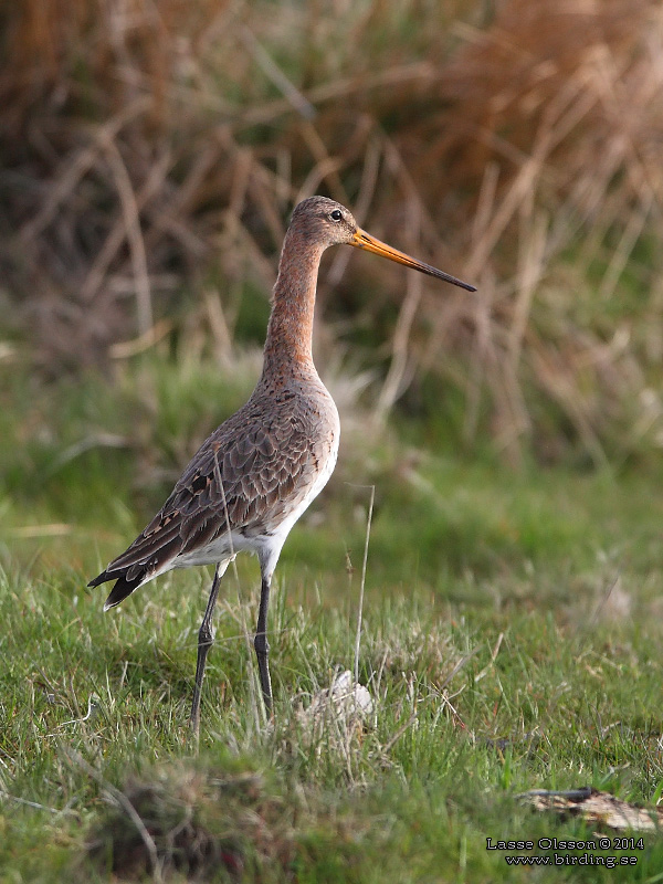
[[[335,594],[329,583],[325,596]],[[15,880],[57,880],[54,867],[76,864],[99,840],[104,850],[90,862],[102,876],[105,860],[122,865],[126,839],[136,841],[80,758],[129,797],[136,780],[161,789],[171,829],[193,807],[197,825],[239,845],[246,880],[292,880],[293,867],[298,881],[514,880],[502,856],[486,853],[486,836],[588,834],[578,822],[535,818],[514,793],[590,782],[651,802],[660,791],[661,630],[651,615],[592,620],[567,604],[560,617],[530,600],[508,613],[452,603],[442,614],[425,598],[373,600],[361,677],[378,698],[377,719],[340,753],[326,738],[307,747],[292,697],[328,684],[333,665],[351,664],[351,600],[330,609],[292,577],[282,586],[272,617],[277,717],[265,734],[255,729],[242,639],[254,604],[242,611],[231,581],[197,758],[186,717],[201,578],[161,581],[113,618],[82,586],[71,571],[2,586],[2,789],[18,801],[4,801],[0,864],[21,869]],[[490,743],[498,738],[505,749]],[[232,788],[235,778],[232,807],[260,818],[263,855],[259,823],[219,806],[214,782]],[[145,818],[161,819],[164,800],[146,799]],[[633,880],[646,880],[663,846],[649,838],[636,855]]]

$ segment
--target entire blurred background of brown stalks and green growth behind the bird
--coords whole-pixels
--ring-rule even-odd
[[[0,15],[11,506],[39,509],[48,486],[66,519],[82,475],[101,517],[113,476],[149,515],[252,389],[288,214],[314,192],[478,287],[326,256],[316,361],[347,430],[337,482],[375,478],[385,427],[411,444],[387,456],[403,474],[422,450],[656,469],[659,4],[22,0]]]

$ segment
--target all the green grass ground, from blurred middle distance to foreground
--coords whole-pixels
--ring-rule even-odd
[[[515,869],[486,850],[487,838],[591,836],[524,807],[515,796],[528,789],[661,796],[659,476],[515,475],[487,457],[414,455],[389,435],[366,443],[367,464],[352,450],[277,571],[273,728],[245,640],[257,566],[244,559],[224,579],[197,751],[187,715],[211,573],[170,573],[107,614],[85,583],[222,419],[210,398],[232,410],[250,372],[168,359],[124,371],[113,389],[88,378],[28,401],[17,381],[6,399],[0,881],[149,876],[114,790],[176,881],[659,880],[654,835],[636,866],[612,870]],[[127,442],[72,456],[91,428]],[[369,499],[358,486],[372,483],[359,673],[376,714],[344,747],[330,730],[312,741],[297,709],[354,665]]]

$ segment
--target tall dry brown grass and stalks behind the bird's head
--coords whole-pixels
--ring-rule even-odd
[[[465,441],[488,431],[514,463],[659,445],[660,8],[415,6],[6,12],[0,262],[42,362],[149,343],[182,286],[227,348],[225,292],[269,292],[292,203],[324,191],[480,286],[409,278],[403,298],[388,267],[352,265],[355,292],[399,305],[379,414],[435,371]],[[350,296],[347,251],[320,297],[366,323],[382,298]]]

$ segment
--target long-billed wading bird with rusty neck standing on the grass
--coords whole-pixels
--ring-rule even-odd
[[[215,566],[198,633],[189,717],[196,734],[221,578],[242,551],[255,554],[260,564],[253,643],[264,706],[273,715],[267,641],[272,577],[287,535],[327,484],[338,454],[338,411],[312,356],[318,269],[323,252],[332,245],[350,245],[476,291],[371,236],[335,200],[309,197],[295,207],[272,292],[263,369],[253,393],[206,439],[145,530],[88,583],[116,581],[104,604],[107,611],[172,568]]]

